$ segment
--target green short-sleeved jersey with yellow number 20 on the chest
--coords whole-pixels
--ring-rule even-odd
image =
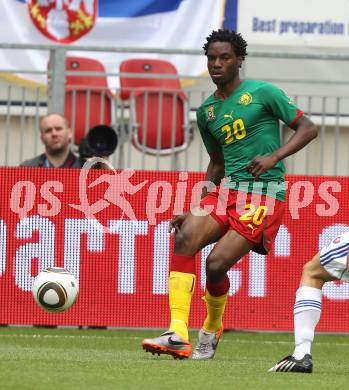
[[[246,166],[257,155],[280,148],[279,120],[292,126],[303,112],[276,86],[243,81],[226,99],[208,97],[197,111],[199,130],[209,153],[223,151],[228,188],[285,200],[285,166],[279,161],[258,181]]]

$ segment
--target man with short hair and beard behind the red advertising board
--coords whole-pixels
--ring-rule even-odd
[[[84,160],[70,149],[73,134],[67,119],[57,112],[43,116],[40,120],[40,139],[45,152],[23,161],[21,167],[82,168]]]

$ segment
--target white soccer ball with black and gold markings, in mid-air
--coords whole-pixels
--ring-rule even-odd
[[[35,278],[32,292],[36,303],[48,312],[68,310],[79,294],[75,276],[65,268],[52,267]]]

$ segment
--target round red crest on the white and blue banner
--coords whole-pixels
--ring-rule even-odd
[[[97,0],[28,0],[28,10],[43,35],[55,42],[71,43],[93,28]]]

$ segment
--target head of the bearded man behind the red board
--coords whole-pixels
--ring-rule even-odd
[[[41,141],[48,154],[64,153],[72,138],[71,130],[60,115],[50,115],[41,121]]]

